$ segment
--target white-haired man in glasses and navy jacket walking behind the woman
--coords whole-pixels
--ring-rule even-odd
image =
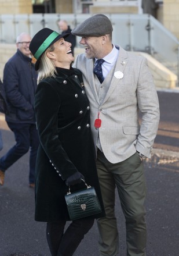
[[[5,115],[5,119],[14,133],[16,144],[0,159],[0,185],[4,183],[5,170],[30,148],[29,184],[30,187],[34,187],[39,138],[33,106],[37,73],[32,63],[30,42],[31,37],[26,33],[21,33],[17,37],[17,52],[9,59],[3,70],[3,84],[9,105],[9,113]]]

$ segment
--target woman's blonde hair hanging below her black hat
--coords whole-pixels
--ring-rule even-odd
[[[51,45],[41,56],[41,60],[39,62],[39,69],[38,69],[38,79],[37,83],[42,79],[45,79],[49,76],[56,76],[56,67],[54,66],[54,62],[46,56],[46,52],[53,52],[54,51],[54,45]]]

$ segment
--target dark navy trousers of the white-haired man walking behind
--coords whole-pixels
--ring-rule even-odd
[[[0,169],[5,172],[14,162],[23,157],[30,148],[29,183],[34,183],[36,153],[39,145],[36,125],[31,123],[8,122],[8,126],[14,133],[16,144],[0,159]]]

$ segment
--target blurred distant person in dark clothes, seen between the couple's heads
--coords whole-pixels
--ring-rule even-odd
[[[72,55],[74,55],[74,48],[76,46],[76,37],[75,37],[75,35],[71,34],[70,26],[68,25],[66,20],[59,20],[57,22],[57,25],[59,26],[59,29],[60,29],[62,35],[70,34],[68,36],[68,42],[71,42],[71,52],[72,52]]]

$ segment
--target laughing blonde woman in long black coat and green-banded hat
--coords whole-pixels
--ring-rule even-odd
[[[71,256],[93,226],[104,216],[95,150],[90,130],[90,107],[82,74],[71,67],[74,56],[68,34],[45,28],[34,35],[30,50],[37,59],[38,88],[35,114],[40,145],[35,172],[35,221],[47,222],[52,256]],[[65,41],[67,39],[67,41]],[[43,42],[46,41],[46,44]],[[70,221],[65,194],[81,190],[85,179],[94,186],[101,214]]]

